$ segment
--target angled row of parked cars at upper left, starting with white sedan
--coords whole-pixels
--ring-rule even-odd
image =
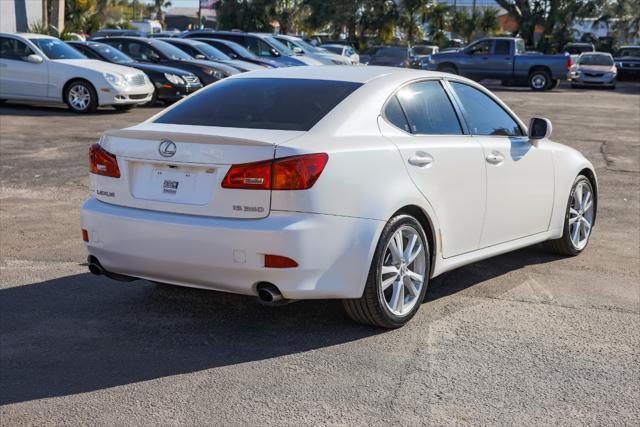
[[[0,101],[62,100],[77,113],[91,113],[99,106],[128,110],[158,100],[175,102],[242,72],[358,62],[353,50],[336,54],[285,35],[194,31],[180,38],[146,38],[108,34],[65,43],[41,34],[0,33]]]

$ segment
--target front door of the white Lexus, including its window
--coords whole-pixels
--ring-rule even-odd
[[[554,193],[552,152],[529,142],[522,126],[488,93],[450,82],[471,134],[484,152],[487,207],[480,247],[547,231]]]

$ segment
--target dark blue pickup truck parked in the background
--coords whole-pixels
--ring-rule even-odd
[[[476,81],[498,79],[505,85],[528,83],[533,90],[549,90],[567,78],[571,65],[568,55],[527,54],[522,39],[494,37],[454,52],[431,55],[426,68]]]

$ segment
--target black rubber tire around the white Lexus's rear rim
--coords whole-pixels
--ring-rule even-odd
[[[420,243],[422,244],[425,255],[425,273],[422,289],[417,297],[417,302],[408,313],[398,316],[392,313],[387,307],[385,300],[386,297],[381,288],[380,282],[382,280],[381,268],[384,261],[383,258],[385,256],[389,240],[392,238],[394,233],[403,226],[415,230],[421,239]],[[392,218],[385,226],[380,236],[380,240],[378,241],[362,297],[358,299],[343,300],[342,304],[345,311],[353,320],[365,325],[378,326],[387,329],[399,328],[405,325],[420,309],[420,305],[424,300],[424,295],[429,283],[429,275],[431,273],[430,262],[429,244],[420,223],[409,215],[398,215]]]

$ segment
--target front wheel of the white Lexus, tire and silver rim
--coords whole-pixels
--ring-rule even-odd
[[[562,237],[549,240],[545,247],[552,252],[575,256],[587,247],[596,219],[598,200],[591,181],[579,175],[571,187]]]

